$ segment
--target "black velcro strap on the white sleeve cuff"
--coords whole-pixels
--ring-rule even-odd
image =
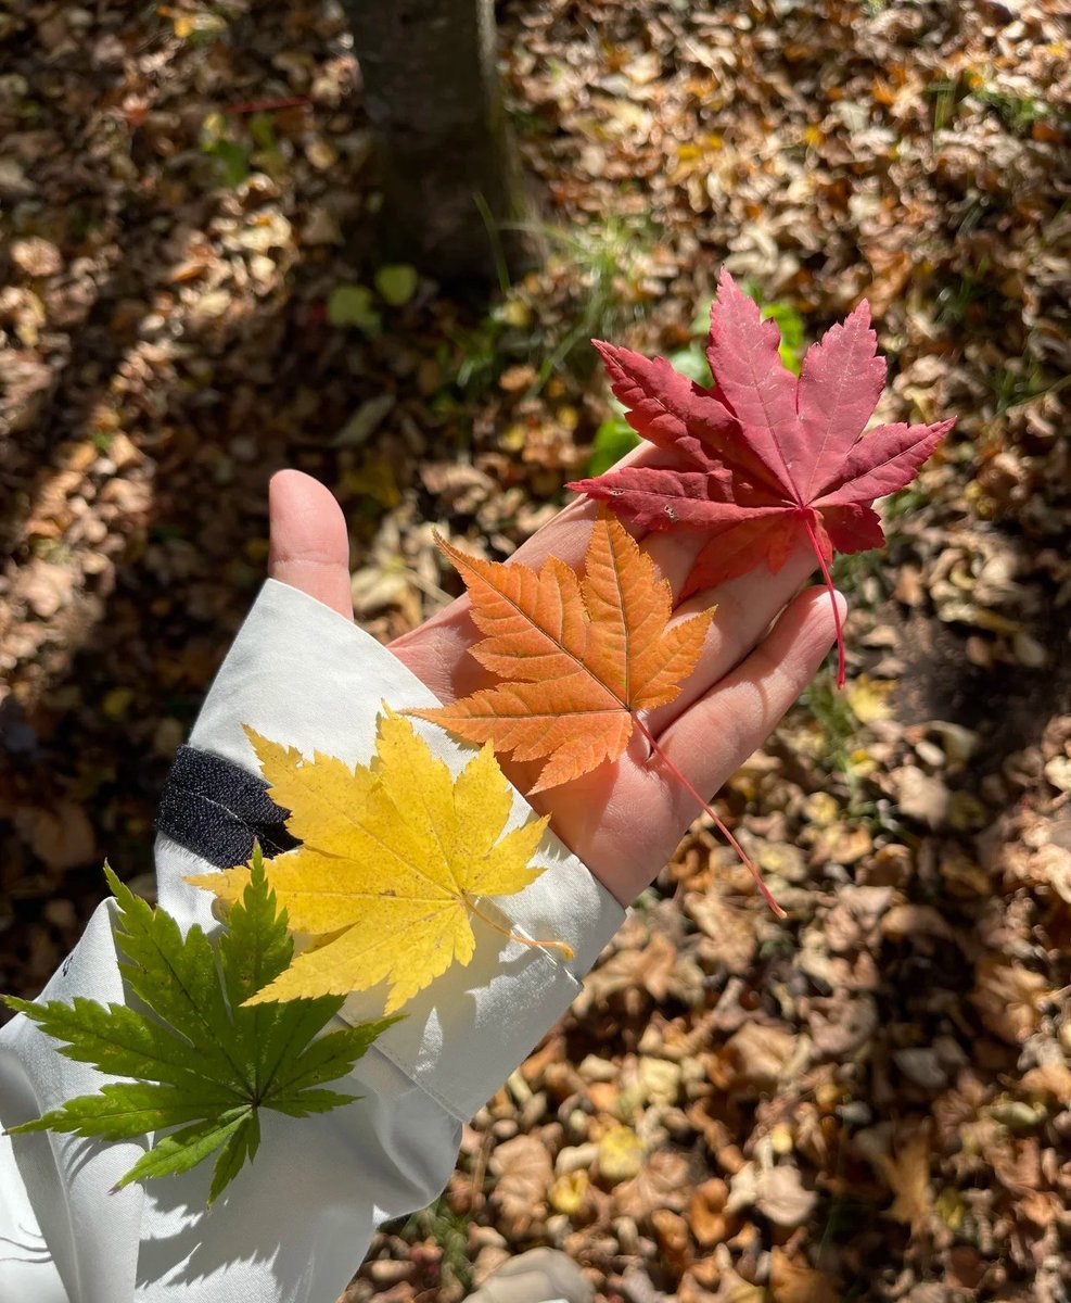
[[[287,831],[291,812],[267,783],[240,765],[197,747],[180,747],[167,775],[156,827],[218,869],[245,864],[253,842],[271,859],[301,843]]]

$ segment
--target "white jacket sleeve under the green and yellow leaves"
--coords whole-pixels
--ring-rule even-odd
[[[429,691],[360,628],[268,580],[194,726],[192,745],[257,773],[250,724],[306,754],[367,761],[382,702],[435,705]],[[470,751],[417,723],[455,771]],[[529,816],[516,796],[513,823]],[[477,921],[476,955],[405,1007],[408,1015],[339,1083],[362,1098],[293,1119],[262,1114],[263,1139],[211,1212],[211,1164],[109,1194],[143,1144],[77,1136],[0,1138],[0,1300],[4,1303],[332,1303],[374,1229],[430,1203],[446,1184],[461,1123],[502,1085],[578,993],[578,980],[624,911],[547,833],[546,872],[495,907],[509,928],[572,945],[568,963]],[[188,886],[211,869],[156,842],[159,900],[185,928],[215,928],[211,898]],[[485,902],[485,906],[487,903]],[[102,904],[42,998],[124,1001]],[[350,997],[343,1018],[378,1016],[383,990]],[[56,1053],[25,1018],[0,1031],[0,1122],[14,1126],[108,1080]]]

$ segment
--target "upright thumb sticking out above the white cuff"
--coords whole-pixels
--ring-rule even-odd
[[[280,470],[268,485],[268,575],[353,619],[349,536],[335,495],[300,470]]]

